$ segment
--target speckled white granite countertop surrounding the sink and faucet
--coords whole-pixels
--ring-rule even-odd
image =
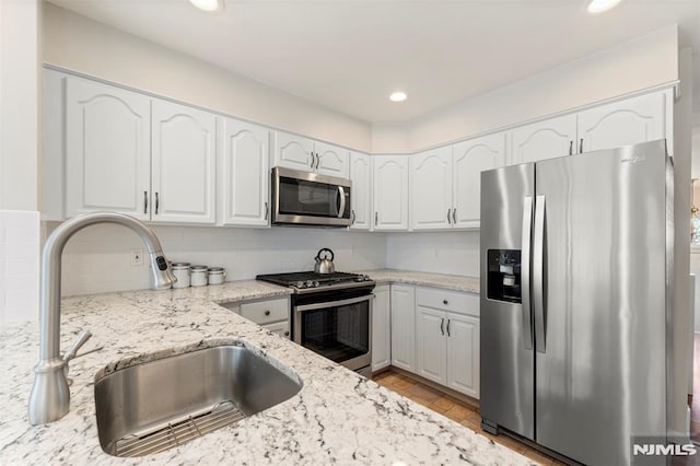
[[[215,302],[272,298],[289,290],[256,281],[202,289],[135,291],[62,300],[61,348],[82,329],[83,347],[104,349],[73,360],[70,411],[28,424],[27,398],[37,362],[38,328],[0,333],[0,457],[8,464],[440,464],[525,465],[527,458],[282,339]],[[95,374],[188,348],[243,341],[303,382],[299,394],[258,415],[155,455],[116,458],[97,439]],[[127,363],[128,365],[129,363]],[[105,369],[106,368],[106,369]]]

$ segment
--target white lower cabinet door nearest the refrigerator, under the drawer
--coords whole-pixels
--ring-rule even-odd
[[[447,313],[447,386],[479,398],[479,319]]]

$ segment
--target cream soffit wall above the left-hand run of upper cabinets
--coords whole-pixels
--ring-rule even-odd
[[[371,149],[371,127],[364,121],[51,3],[44,5],[47,63],[360,151]]]

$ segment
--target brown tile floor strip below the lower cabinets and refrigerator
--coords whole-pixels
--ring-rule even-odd
[[[410,398],[433,411],[440,412],[453,421],[459,422],[460,424],[492,439],[494,442],[508,446],[509,448],[514,450],[539,464],[546,466],[559,466],[564,464],[533,450],[510,436],[503,434],[491,435],[482,431],[480,427],[481,417],[479,416],[479,410],[477,408],[453,398],[443,392],[413,381],[398,372],[389,370],[375,375],[372,380],[377,384],[393,389],[394,392],[397,392],[398,394],[404,395],[405,397]]]

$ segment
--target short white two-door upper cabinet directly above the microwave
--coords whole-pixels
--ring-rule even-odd
[[[275,132],[275,166],[348,177],[350,151],[288,132]]]

